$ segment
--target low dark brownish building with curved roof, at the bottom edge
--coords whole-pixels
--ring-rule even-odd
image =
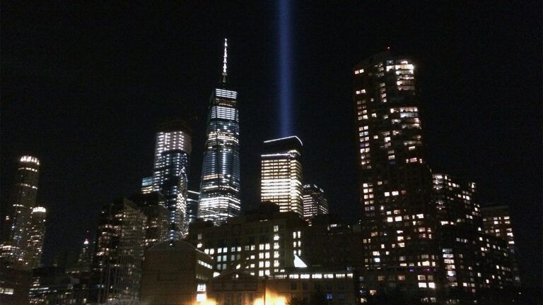
[[[164,241],[145,252],[141,304],[205,304],[214,262],[185,241]]]

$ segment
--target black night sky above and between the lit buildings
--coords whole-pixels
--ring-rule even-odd
[[[1,7],[1,203],[18,157],[39,157],[44,263],[78,249],[101,205],[139,190],[160,121],[189,119],[189,185],[198,189],[224,37],[238,90],[243,205],[258,202],[261,143],[288,124],[279,117],[275,2],[9,2]],[[541,12],[539,1],[292,3],[290,123],[304,143],[305,181],[325,189],[333,213],[356,220],[351,69],[387,46],[410,54],[429,164],[477,182],[479,203],[510,205],[522,280],[541,286]]]

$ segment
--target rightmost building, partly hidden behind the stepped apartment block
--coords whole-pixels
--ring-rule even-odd
[[[518,250],[513,236],[513,220],[510,217],[507,205],[486,205],[481,208],[483,229],[485,234],[503,239],[507,243],[515,286],[520,286],[518,270]]]

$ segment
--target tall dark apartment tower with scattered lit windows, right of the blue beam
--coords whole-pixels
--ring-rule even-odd
[[[382,52],[354,67],[354,109],[368,289],[436,299],[438,249],[414,62]]]

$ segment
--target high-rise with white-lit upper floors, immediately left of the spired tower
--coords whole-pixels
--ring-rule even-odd
[[[170,211],[169,239],[181,239],[185,234],[191,135],[192,130],[181,120],[162,124],[156,134],[153,191],[166,199]],[[142,186],[145,190],[148,188]]]

